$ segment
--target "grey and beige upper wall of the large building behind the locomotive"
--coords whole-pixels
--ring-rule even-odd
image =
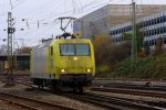
[[[138,4],[136,6],[137,19],[157,13],[164,10],[165,6]],[[110,30],[132,20],[131,4],[107,4],[90,14],[74,21],[73,32],[81,32],[82,37],[97,35],[110,35]]]

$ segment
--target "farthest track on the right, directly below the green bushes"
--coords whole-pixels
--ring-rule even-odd
[[[151,81],[152,86],[147,86],[145,80],[98,80],[95,79],[92,84],[93,87],[110,87],[110,88],[127,88],[127,89],[137,89],[137,90],[149,90],[149,91],[166,91],[166,81]]]

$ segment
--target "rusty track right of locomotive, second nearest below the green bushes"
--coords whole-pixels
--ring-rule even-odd
[[[143,91],[143,90],[134,90],[134,89],[120,89],[120,88],[91,88],[90,90],[166,99],[166,94],[164,92],[154,92],[154,91],[145,91],[145,90]]]

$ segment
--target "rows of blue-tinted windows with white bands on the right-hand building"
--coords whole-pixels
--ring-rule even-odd
[[[144,37],[144,43],[149,46],[156,45],[156,40],[160,36],[166,44],[166,12],[159,12],[151,16],[142,18],[137,20],[139,25],[139,32]],[[132,33],[132,22],[127,22],[117,26],[114,26],[110,31],[110,35],[115,43],[123,42],[124,33]]]

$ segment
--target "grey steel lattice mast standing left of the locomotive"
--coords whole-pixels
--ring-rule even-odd
[[[7,72],[7,84],[6,86],[13,86],[13,77],[12,77],[12,67],[13,67],[13,57],[12,57],[12,34],[15,29],[13,28],[13,19],[12,13],[8,12],[8,72]]]

